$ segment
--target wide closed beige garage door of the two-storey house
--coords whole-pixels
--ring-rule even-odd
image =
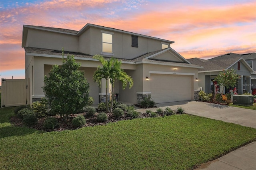
[[[151,97],[156,103],[191,100],[190,75],[151,74]]]

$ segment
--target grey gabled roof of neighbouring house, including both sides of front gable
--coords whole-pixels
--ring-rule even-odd
[[[251,73],[254,72],[242,57],[220,59],[220,60],[213,60],[213,61],[204,60],[200,58],[191,58],[191,59],[188,59],[188,61],[190,61],[192,64],[203,66],[204,68],[199,69],[198,70],[199,72],[222,71],[223,69],[229,69],[238,61],[241,61]]]

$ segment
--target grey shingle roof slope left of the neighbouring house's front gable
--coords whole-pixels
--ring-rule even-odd
[[[222,70],[227,69],[231,65],[233,65],[236,61],[241,59],[242,57],[236,57],[236,58],[228,58],[228,59],[222,59],[222,60],[214,60],[209,61],[205,59],[200,58],[191,58],[187,59],[192,64],[201,65],[204,68],[199,69],[198,71],[215,71],[215,70]]]

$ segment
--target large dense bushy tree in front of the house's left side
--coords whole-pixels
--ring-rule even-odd
[[[81,110],[89,99],[89,83],[84,73],[79,71],[74,55],[68,54],[64,59],[62,49],[62,66],[53,65],[49,77],[44,77],[43,91],[53,113],[63,116],[64,120],[72,113]]]

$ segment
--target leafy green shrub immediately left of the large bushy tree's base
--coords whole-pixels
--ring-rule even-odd
[[[33,111],[36,113],[37,117],[45,117],[47,114],[47,100],[42,98],[41,101],[36,101],[32,103]]]

